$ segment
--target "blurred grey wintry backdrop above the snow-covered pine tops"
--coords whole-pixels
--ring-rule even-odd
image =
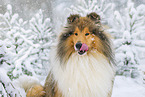
[[[108,2],[114,2],[115,8],[120,10],[126,6],[127,1],[128,0],[110,0]],[[135,2],[135,6],[145,4],[145,0],[133,1]],[[52,17],[53,11],[59,10],[57,9],[58,6],[65,8],[79,2],[81,2],[81,0],[0,0],[0,13],[5,13],[6,5],[11,4],[13,12],[18,13],[24,20],[30,19],[39,9],[44,11],[45,17]]]

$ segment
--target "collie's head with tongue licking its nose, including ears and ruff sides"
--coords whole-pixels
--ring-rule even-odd
[[[100,16],[90,13],[86,17],[78,14],[67,18],[67,26],[59,37],[57,54],[61,60],[67,60],[72,53],[78,56],[92,51],[111,58],[112,49],[107,34],[103,31]]]

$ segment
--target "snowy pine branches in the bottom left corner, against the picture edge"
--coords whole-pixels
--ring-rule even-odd
[[[11,56],[5,42],[0,40],[0,97],[22,97],[19,90],[8,77],[7,72],[11,68]],[[23,91],[23,90],[22,90]],[[24,91],[23,91],[24,92]]]

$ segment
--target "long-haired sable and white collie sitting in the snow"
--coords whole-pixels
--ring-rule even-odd
[[[99,15],[70,15],[51,53],[43,89],[32,87],[28,97],[111,97],[114,54]]]

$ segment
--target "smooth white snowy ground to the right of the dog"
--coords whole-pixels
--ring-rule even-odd
[[[112,97],[145,97],[145,86],[137,80],[116,76]]]

